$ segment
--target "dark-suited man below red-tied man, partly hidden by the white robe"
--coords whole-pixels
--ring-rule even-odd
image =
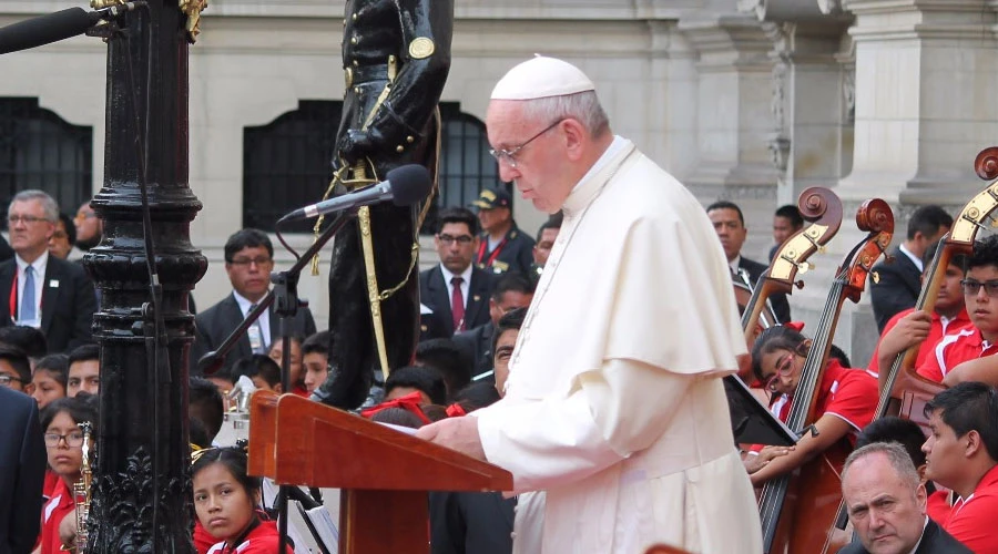
[[[454,336],[454,343],[466,359],[473,360],[472,380],[496,382],[492,376],[492,336],[499,318],[509,310],[530,306],[532,299],[533,281],[520,273],[503,274],[496,279],[496,288],[489,298],[489,322]]]

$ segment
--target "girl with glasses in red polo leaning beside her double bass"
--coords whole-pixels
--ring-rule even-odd
[[[785,326],[766,329],[752,347],[752,371],[756,379],[771,392],[785,396],[772,407],[781,419],[790,413],[809,349],[811,339]],[[781,403],[784,399],[788,401]],[[873,419],[876,403],[876,379],[865,370],[845,368],[829,357],[818,384],[814,422],[817,434],[805,433],[794,450],[752,473],[752,483],[760,485],[793,471],[842,439],[854,442]]]

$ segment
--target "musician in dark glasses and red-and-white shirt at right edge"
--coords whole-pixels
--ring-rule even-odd
[[[971,327],[943,337],[918,375],[947,386],[960,381],[998,382],[998,235],[974,245],[964,275],[964,301]],[[989,359],[986,359],[989,358]]]

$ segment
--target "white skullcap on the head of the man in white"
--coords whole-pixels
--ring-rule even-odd
[[[537,55],[503,75],[492,89],[492,100],[534,100],[594,91],[585,73],[557,58]]]

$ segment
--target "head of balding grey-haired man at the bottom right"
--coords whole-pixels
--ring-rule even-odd
[[[859,541],[870,554],[907,554],[925,526],[925,485],[903,479],[884,453],[856,460],[842,497]]]

